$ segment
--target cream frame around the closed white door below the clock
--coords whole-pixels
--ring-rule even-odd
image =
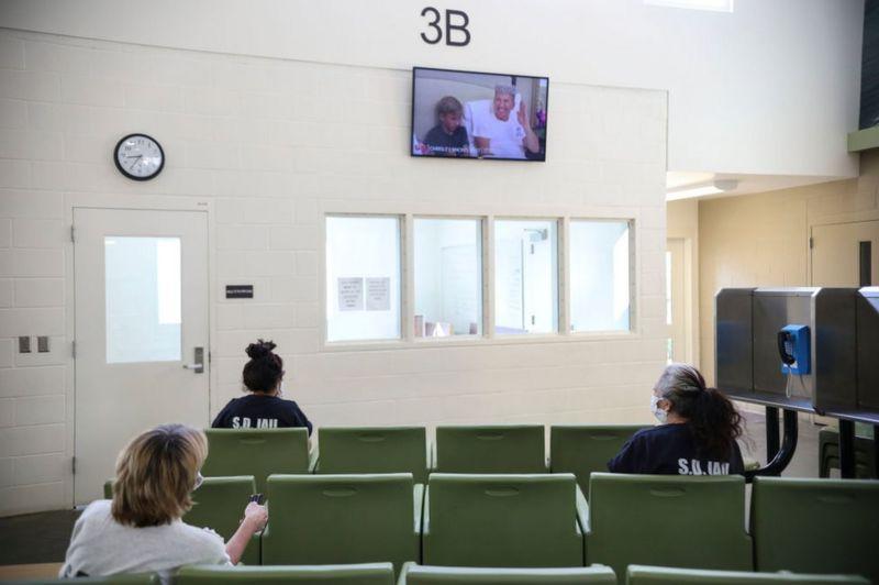
[[[131,190],[131,189],[121,189]],[[65,396],[65,460],[69,467],[64,476],[64,501],[73,505],[74,494],[74,448],[76,446],[76,358],[73,355],[73,342],[76,339],[76,272],[74,258],[74,209],[119,209],[142,211],[201,211],[207,213],[208,221],[208,340],[210,347],[216,345],[216,320],[214,319],[218,299],[216,287],[216,214],[215,203],[208,197],[183,196],[136,196],[120,195],[66,194],[64,197],[64,224],[67,230],[64,246],[64,396]],[[210,361],[210,354],[209,354]],[[216,368],[208,368],[208,397],[215,404],[218,388]]]

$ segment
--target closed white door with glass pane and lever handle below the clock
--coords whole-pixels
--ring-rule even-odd
[[[100,497],[135,434],[166,422],[209,423],[208,219],[77,208],[74,233],[79,505]]]

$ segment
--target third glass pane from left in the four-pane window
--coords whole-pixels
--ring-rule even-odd
[[[558,224],[494,222],[494,332],[558,330]]]

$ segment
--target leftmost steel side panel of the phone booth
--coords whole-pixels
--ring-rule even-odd
[[[754,390],[753,295],[753,288],[723,288],[714,296],[714,372],[717,388],[726,393]]]

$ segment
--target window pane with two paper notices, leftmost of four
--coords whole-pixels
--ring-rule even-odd
[[[326,218],[327,341],[400,338],[400,220]]]

